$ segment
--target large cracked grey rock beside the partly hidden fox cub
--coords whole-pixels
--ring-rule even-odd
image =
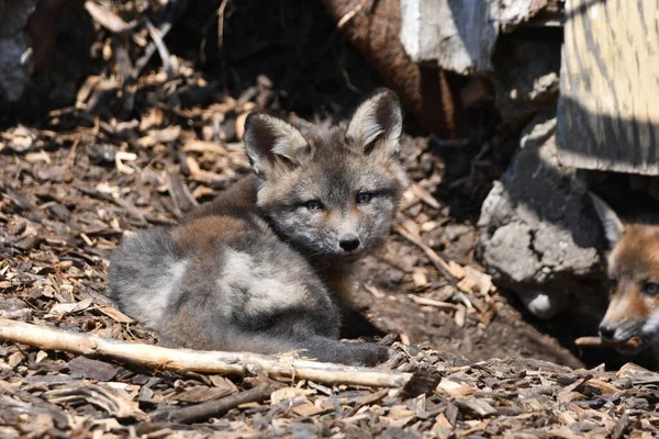
[[[569,308],[592,317],[579,324],[596,324],[606,307],[605,241],[585,184],[557,162],[555,133],[556,119],[547,116],[525,128],[482,205],[479,256],[494,282],[517,293],[535,316]]]

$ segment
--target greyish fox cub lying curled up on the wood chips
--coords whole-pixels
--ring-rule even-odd
[[[382,345],[342,342],[339,329],[354,262],[389,235],[405,185],[399,100],[378,90],[347,123],[295,125],[252,113],[254,175],[113,255],[112,297],[166,346],[389,358]]]

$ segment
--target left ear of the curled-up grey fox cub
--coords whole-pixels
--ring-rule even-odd
[[[261,112],[247,116],[244,138],[252,168],[261,178],[275,169],[300,166],[312,155],[311,146],[298,128]]]

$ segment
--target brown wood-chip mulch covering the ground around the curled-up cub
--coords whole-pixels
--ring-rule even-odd
[[[266,76],[238,97],[219,93],[174,55],[137,68],[153,29],[132,2],[98,4],[102,71],[38,127],[0,132],[0,317],[156,344],[104,295],[110,254],[124,233],[176,224],[248,173],[244,119],[283,94]],[[134,26],[130,44],[118,45],[108,30],[113,15]],[[457,218],[453,200],[440,195],[474,191],[482,169],[495,165],[489,147],[478,147],[472,161],[462,159],[467,171],[451,177],[455,164],[437,151],[455,157],[456,148],[466,146],[405,136],[412,185],[356,293],[369,318],[392,333],[386,342],[399,354],[383,368],[434,371],[442,380],[433,392],[259,371],[180,374],[4,342],[0,436],[656,437],[658,373],[634,364],[585,369],[526,323],[478,266],[473,216]],[[208,404],[214,412],[202,418],[183,416]]]

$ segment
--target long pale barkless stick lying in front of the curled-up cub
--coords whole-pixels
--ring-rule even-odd
[[[90,358],[109,358],[156,370],[248,375],[255,371],[272,378],[312,380],[324,384],[351,384],[402,389],[412,373],[321,363],[247,352],[168,349],[121,341],[93,334],[75,334],[0,318],[0,339],[41,349],[62,350]]]

